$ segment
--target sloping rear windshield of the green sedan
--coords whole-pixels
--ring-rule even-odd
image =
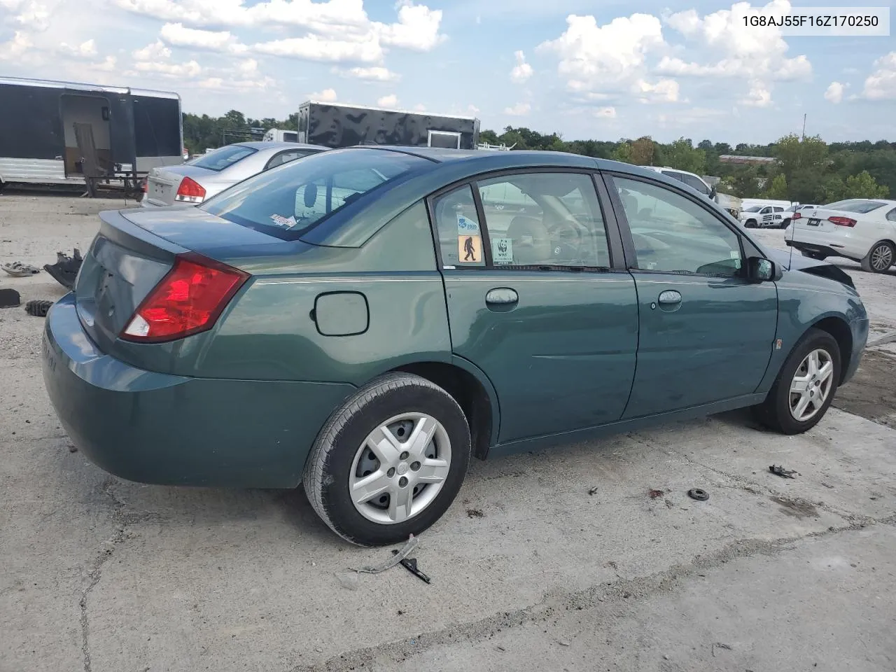
[[[432,165],[395,151],[323,151],[250,177],[200,206],[225,220],[295,240],[363,194]]]

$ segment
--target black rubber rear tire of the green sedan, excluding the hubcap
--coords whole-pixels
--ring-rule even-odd
[[[384,525],[367,520],[351,500],[349,473],[355,455],[367,435],[385,420],[403,413],[426,413],[435,418],[451,441],[451,466],[442,489],[426,509],[408,521]],[[386,388],[357,412],[350,414],[332,439],[323,446],[321,502],[334,530],[353,543],[377,546],[407,539],[438,521],[461,489],[470,463],[470,427],[461,407],[444,391],[424,384]]]

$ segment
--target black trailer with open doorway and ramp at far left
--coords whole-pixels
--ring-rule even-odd
[[[0,78],[0,185],[134,188],[183,148],[177,93]]]

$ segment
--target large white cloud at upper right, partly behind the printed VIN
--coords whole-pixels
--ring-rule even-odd
[[[761,99],[767,94],[771,103],[771,82],[806,81],[812,76],[812,64],[804,55],[788,57],[788,44],[779,28],[757,30],[743,22],[750,3],[732,4],[730,9],[701,16],[695,10],[671,14],[665,18],[669,28],[693,43],[698,60],[663,56],[657,71],[673,76],[718,77],[761,82]],[[787,0],[772,0],[762,7],[771,15],[789,13]],[[751,99],[755,99],[751,97]]]

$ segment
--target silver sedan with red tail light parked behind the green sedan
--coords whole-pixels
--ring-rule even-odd
[[[179,166],[152,168],[143,182],[144,208],[201,203],[264,170],[326,150],[299,142],[236,142]]]

